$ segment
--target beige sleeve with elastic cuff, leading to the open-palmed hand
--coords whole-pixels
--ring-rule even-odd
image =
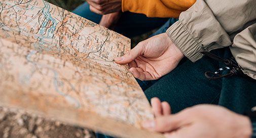
[[[180,51],[195,62],[203,56],[201,51],[232,45],[238,32],[255,23],[255,6],[255,0],[197,0],[166,32]]]

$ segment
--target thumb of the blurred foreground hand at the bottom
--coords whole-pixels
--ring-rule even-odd
[[[144,128],[157,131],[157,132],[169,132],[186,125],[187,116],[185,114],[174,114],[169,116],[157,117],[155,120],[146,121],[142,123]]]

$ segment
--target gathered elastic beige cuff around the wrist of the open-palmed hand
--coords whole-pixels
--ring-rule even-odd
[[[180,21],[169,27],[166,33],[176,47],[192,62],[196,62],[203,57],[203,54],[200,53],[201,51],[206,51],[202,47],[203,44]]]

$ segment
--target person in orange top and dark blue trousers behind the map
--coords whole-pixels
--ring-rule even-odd
[[[195,1],[88,0],[72,12],[131,38],[161,27],[169,18],[178,18],[179,13],[186,11]],[[172,20],[171,24],[175,21]]]

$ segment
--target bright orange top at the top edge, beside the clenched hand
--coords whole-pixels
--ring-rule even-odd
[[[196,0],[122,0],[122,11],[145,14],[148,17],[177,18]]]

